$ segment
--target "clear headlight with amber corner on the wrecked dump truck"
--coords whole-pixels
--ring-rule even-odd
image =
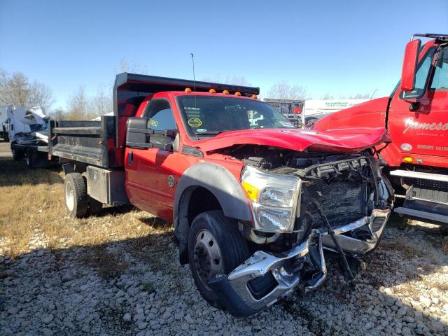
[[[251,200],[255,230],[292,232],[295,222],[300,179],[269,174],[251,166],[244,167],[241,183]]]

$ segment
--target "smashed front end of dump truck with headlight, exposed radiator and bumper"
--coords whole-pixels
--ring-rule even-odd
[[[379,244],[393,193],[370,153],[277,151],[243,160],[248,165],[241,184],[254,223],[239,228],[256,251],[230,274],[209,281],[232,314],[254,314],[293,289],[306,293],[320,286],[327,273],[324,250],[346,263]]]

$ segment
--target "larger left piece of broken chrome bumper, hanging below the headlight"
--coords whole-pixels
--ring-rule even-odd
[[[304,267],[314,272],[304,274],[301,272]],[[209,286],[232,315],[248,316],[269,307],[299,284],[304,291],[313,290],[326,274],[321,235],[314,230],[307,241],[285,255],[256,251],[228,276],[215,276]],[[251,282],[255,279],[267,280],[267,293],[260,294],[253,289]]]

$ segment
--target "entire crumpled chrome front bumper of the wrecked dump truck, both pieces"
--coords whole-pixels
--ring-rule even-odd
[[[363,256],[377,246],[390,214],[388,209],[374,210],[369,217],[335,228],[335,238],[346,254]],[[287,253],[256,251],[230,274],[215,276],[209,286],[232,315],[255,314],[293,288],[308,292],[320,286],[327,274],[323,248],[335,249],[334,241],[328,232],[313,230]]]

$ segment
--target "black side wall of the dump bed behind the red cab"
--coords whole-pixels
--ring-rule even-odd
[[[104,168],[116,160],[116,117],[101,120],[51,120],[48,152],[67,160]]]

